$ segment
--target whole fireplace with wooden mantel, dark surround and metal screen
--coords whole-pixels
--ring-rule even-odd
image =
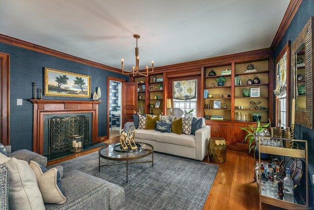
[[[33,151],[62,153],[72,146],[72,135],[84,135],[82,144],[100,142],[98,104],[101,101],[39,100],[33,103]],[[71,142],[71,143],[70,143]]]

